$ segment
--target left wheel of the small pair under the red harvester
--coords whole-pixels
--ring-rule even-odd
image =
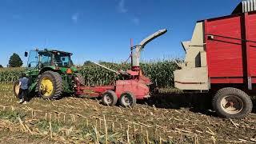
[[[102,94],[102,102],[105,106],[115,106],[118,102],[118,96],[112,90],[107,90]]]

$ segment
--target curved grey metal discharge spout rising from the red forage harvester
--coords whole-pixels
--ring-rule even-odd
[[[147,38],[143,39],[142,42],[140,42],[138,46],[135,46],[136,50],[135,50],[135,53],[132,55],[132,66],[133,67],[139,67],[139,60],[140,60],[141,52],[144,49],[144,47],[146,46],[146,44],[153,41],[155,38],[160,37],[162,34],[166,34],[166,32],[167,32],[166,29],[158,30],[154,34],[151,34]]]

